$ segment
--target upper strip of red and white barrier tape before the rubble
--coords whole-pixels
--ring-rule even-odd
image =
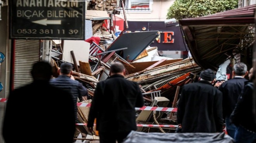
[[[0,98],[0,102],[6,102],[7,99]],[[77,103],[78,107],[91,107],[90,103]],[[150,106],[143,106],[141,108],[135,108],[135,110],[147,110],[147,111],[168,111],[168,112],[177,112],[177,108],[168,108],[168,107],[150,107]]]

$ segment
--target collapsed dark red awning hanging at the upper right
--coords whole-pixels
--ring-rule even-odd
[[[213,15],[179,20],[195,62],[202,68],[218,66],[253,45],[256,5]]]

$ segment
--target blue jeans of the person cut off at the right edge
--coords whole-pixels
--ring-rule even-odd
[[[256,133],[251,133],[242,126],[237,127],[235,131],[236,143],[252,143],[254,140],[256,140]]]

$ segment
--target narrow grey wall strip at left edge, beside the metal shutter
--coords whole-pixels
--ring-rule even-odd
[[[0,52],[5,55],[5,60],[1,63],[0,69],[0,82],[3,85],[3,90],[0,91],[0,98],[7,98],[10,89],[10,58],[11,58],[11,46],[9,35],[9,22],[7,19],[8,10],[7,6],[2,7],[2,20],[0,20]],[[0,102],[0,143],[3,143],[2,138],[2,122],[5,110],[5,104]]]

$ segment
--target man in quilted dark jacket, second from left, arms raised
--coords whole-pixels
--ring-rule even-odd
[[[50,84],[69,92],[73,97],[74,109],[77,112],[77,100],[82,100],[82,96],[87,96],[87,89],[82,83],[71,79],[73,66],[70,63],[62,63],[58,70],[59,76],[50,80]],[[76,114],[77,117],[77,114]]]

